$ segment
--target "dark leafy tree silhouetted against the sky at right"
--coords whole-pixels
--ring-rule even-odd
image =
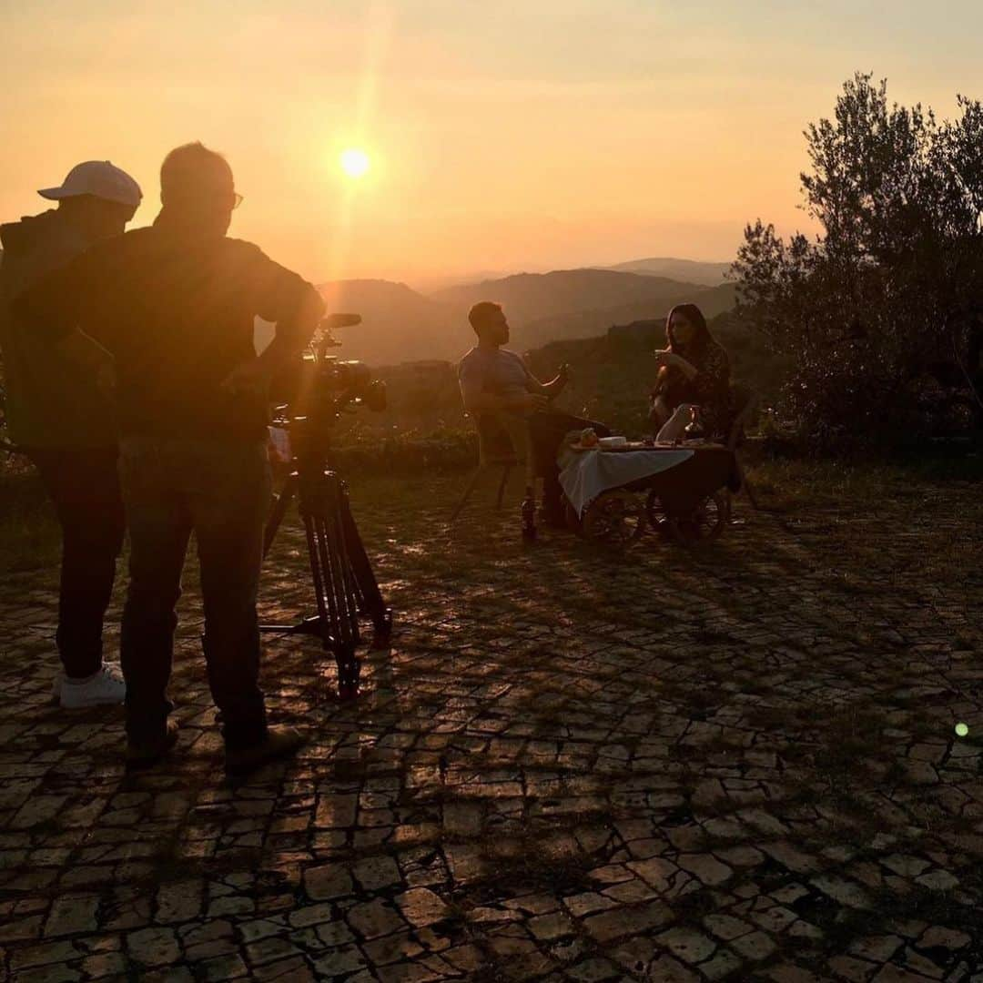
[[[938,432],[954,408],[983,422],[983,105],[957,110],[889,104],[857,74],[805,131],[822,232],[745,229],[738,315],[793,357],[785,407],[818,444]]]

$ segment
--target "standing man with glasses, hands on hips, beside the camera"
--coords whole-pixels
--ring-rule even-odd
[[[244,773],[300,744],[293,728],[267,726],[259,686],[266,388],[298,358],[324,306],[310,283],[226,235],[242,199],[220,154],[172,150],[160,200],[151,227],[89,251],[20,303],[63,351],[95,365],[111,357],[115,371],[131,536],[121,645],[128,762],[152,764],[177,739],[167,684],[194,532],[208,683],[226,769]],[[259,357],[257,316],[276,322]],[[81,330],[66,333],[73,324]]]

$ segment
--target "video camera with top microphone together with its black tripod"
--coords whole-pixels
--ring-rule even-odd
[[[318,613],[294,624],[260,625],[263,631],[314,635],[338,666],[338,697],[358,696],[361,663],[359,618],[372,621],[373,644],[386,645],[392,611],[385,606],[376,575],[352,516],[348,488],[330,466],[331,432],[344,412],[359,406],[385,409],[385,384],[361,362],[327,354],[340,342],[333,330],[361,323],[359,315],[336,314],[321,321],[298,369],[273,386],[282,400],[273,418],[274,434],[287,434],[291,471],[273,500],[263,554],[269,550],[287,508],[296,497],[304,523]],[[283,449],[283,442],[280,442]]]

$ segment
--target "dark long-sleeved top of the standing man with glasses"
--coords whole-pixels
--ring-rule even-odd
[[[167,222],[99,243],[24,294],[17,307],[53,343],[78,326],[113,356],[121,435],[258,439],[261,393],[221,383],[256,355],[255,318],[300,350],[297,315],[314,287],[257,246]],[[318,301],[319,303],[319,301]]]

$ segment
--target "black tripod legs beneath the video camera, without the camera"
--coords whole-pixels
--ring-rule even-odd
[[[276,495],[263,538],[265,556],[291,501],[298,510],[307,538],[308,560],[318,613],[294,624],[263,624],[260,631],[314,635],[338,665],[338,697],[358,696],[361,663],[359,617],[372,620],[374,645],[388,642],[392,610],[385,606],[372,563],[359,535],[348,502],[348,489],[327,466],[326,455],[303,453]]]

